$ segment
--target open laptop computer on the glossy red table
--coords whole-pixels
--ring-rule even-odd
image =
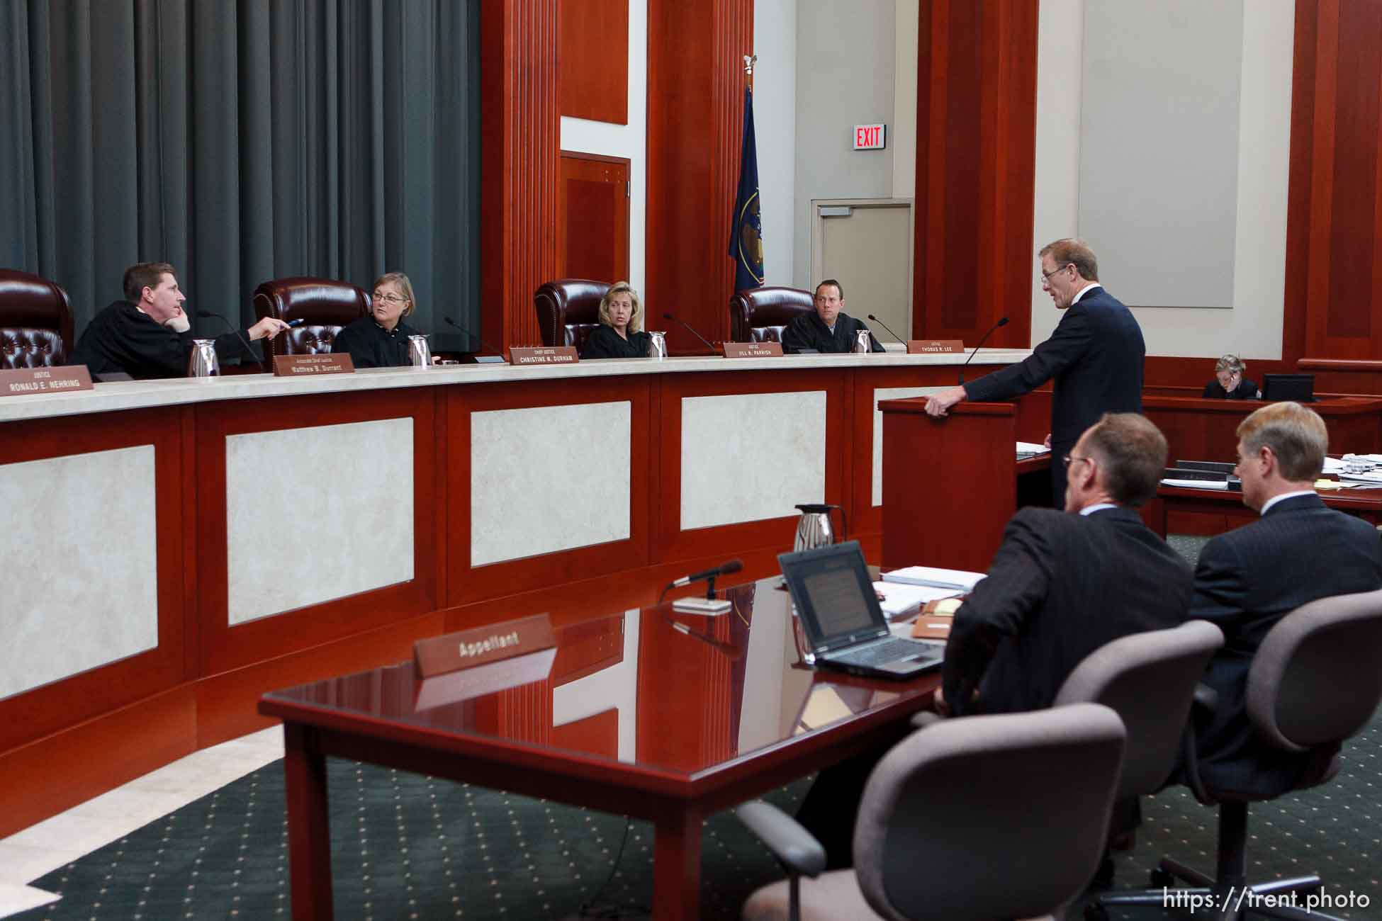
[[[815,661],[854,675],[914,678],[941,664],[937,643],[894,637],[857,540],[778,554]]]

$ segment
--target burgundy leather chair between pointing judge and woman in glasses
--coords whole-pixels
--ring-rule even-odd
[[[254,289],[254,316],[303,320],[268,340],[268,358],[330,352],[341,327],[369,313],[369,294],[354,284],[325,278],[279,278]]]

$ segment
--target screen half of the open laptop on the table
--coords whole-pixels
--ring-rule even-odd
[[[887,632],[858,541],[778,556],[811,645]]]

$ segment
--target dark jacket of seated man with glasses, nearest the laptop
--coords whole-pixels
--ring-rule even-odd
[[[1083,516],[1023,508],[1007,522],[988,579],[955,612],[945,700],[956,715],[1049,707],[1093,650],[1180,624],[1190,594],[1190,565],[1136,510]]]

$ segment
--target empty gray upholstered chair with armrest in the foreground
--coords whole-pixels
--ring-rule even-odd
[[[792,875],[749,896],[742,917],[1050,917],[1083,891],[1103,853],[1124,735],[1101,704],[962,717],[912,733],[869,776],[854,870],[821,873],[820,842],[774,806],[745,804],[739,817]]]

